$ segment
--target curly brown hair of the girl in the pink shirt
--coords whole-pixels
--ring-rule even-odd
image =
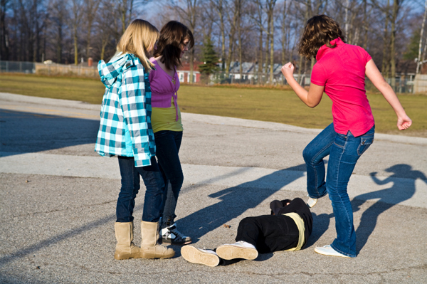
[[[326,15],[316,15],[310,18],[305,25],[304,33],[298,46],[298,53],[308,60],[316,57],[319,48],[326,44],[329,48],[335,48],[337,45],[331,45],[330,41],[335,38],[341,38],[345,43],[345,36],[339,24]]]

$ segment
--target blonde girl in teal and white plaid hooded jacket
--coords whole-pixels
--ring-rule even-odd
[[[172,248],[159,243],[159,218],[164,182],[154,154],[151,125],[151,89],[148,73],[159,31],[147,21],[130,23],[110,62],[98,63],[105,85],[100,130],[95,151],[105,157],[118,156],[122,187],[117,199],[116,259],[171,258]],[[139,191],[139,176],[146,186],[142,213],[141,248],[133,243],[133,210]]]

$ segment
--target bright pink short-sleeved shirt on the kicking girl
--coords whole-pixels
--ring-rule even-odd
[[[317,51],[311,83],[325,86],[325,93],[332,100],[335,132],[346,135],[350,130],[357,137],[375,124],[365,91],[365,66],[371,56],[341,38],[330,43],[337,46],[325,45]]]

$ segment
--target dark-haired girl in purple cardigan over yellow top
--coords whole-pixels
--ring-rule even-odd
[[[157,49],[150,62],[154,70],[149,73],[152,88],[152,127],[156,141],[156,156],[167,189],[162,202],[160,234],[163,243],[184,245],[191,243],[174,223],[176,201],[181,190],[184,175],[179,162],[183,127],[178,107],[177,92],[179,78],[176,67],[181,65],[184,53],[194,46],[193,34],[182,23],[169,21],[160,31]]]

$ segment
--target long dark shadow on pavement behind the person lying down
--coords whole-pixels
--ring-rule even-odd
[[[206,233],[235,219],[246,210],[255,208],[283,186],[303,177],[304,172],[300,171],[301,168],[301,165],[298,165],[281,169],[252,182],[245,182],[210,194],[209,197],[220,201],[180,219],[179,227],[183,228],[183,231],[191,231],[191,238],[196,242]],[[264,214],[270,214],[268,206],[265,207]]]

